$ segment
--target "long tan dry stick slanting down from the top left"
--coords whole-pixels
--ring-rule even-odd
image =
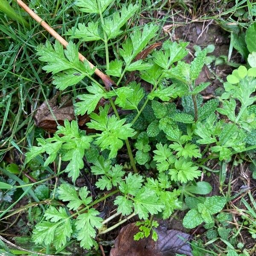
[[[64,47],[67,47],[68,42],[61,37],[54,29],[52,29],[52,27],[50,27],[44,20],[41,19],[41,17],[39,17],[35,12],[33,12],[29,6],[27,6],[25,3],[23,3],[23,1],[21,0],[17,0],[18,5],[23,8],[34,20],[36,20],[38,23],[40,23],[40,25],[42,27],[44,27],[55,39],[57,39]],[[79,52],[79,60],[84,62],[85,60],[87,60],[84,55],[81,55],[81,53]],[[88,61],[90,67],[93,69],[95,66],[90,63],[90,61]],[[105,87],[107,90],[110,89],[110,87],[115,84],[112,79],[105,75],[104,73],[102,73],[99,69],[96,68],[95,70],[95,74],[97,76],[99,76],[102,81],[105,84]]]

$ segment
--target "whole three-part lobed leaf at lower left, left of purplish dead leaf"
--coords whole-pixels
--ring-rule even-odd
[[[92,197],[88,197],[88,194],[87,187],[82,187],[79,190],[79,196],[74,186],[61,184],[59,188],[59,198],[64,202],[69,201],[67,207],[70,210],[79,209],[82,204],[84,207],[88,207],[92,201]],[[53,243],[56,249],[59,249],[67,243],[71,234],[76,232],[77,240],[81,241],[81,247],[89,250],[95,244],[93,239],[96,236],[96,230],[94,228],[99,229],[102,226],[102,218],[97,217],[99,212],[94,208],[84,208],[84,210],[86,210],[84,213],[78,212],[75,230],[73,230],[73,215],[68,215],[63,207],[57,209],[50,206],[44,213],[45,221],[35,225],[33,241],[36,244],[44,243],[45,245]]]

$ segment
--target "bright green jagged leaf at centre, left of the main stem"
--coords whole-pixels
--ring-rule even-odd
[[[105,106],[105,110],[107,110]],[[124,124],[125,119],[118,120],[115,115],[108,117],[107,111],[100,108],[99,115],[93,113],[90,115],[91,122],[87,123],[89,128],[102,131],[101,134],[97,134],[96,144],[104,149],[109,149],[109,158],[116,157],[117,151],[122,148],[123,141],[128,137],[134,136],[134,129],[131,128],[131,124]]]

